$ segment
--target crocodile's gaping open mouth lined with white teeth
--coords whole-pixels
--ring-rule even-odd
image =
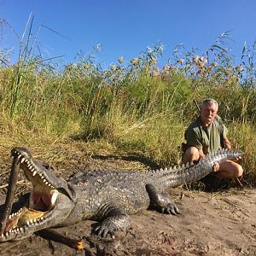
[[[29,155],[14,151],[13,156],[20,160],[20,168],[32,183],[32,192],[28,206],[9,215],[3,234],[0,235],[2,237],[8,237],[11,234],[18,235],[32,225],[43,223],[48,213],[55,207],[55,201],[59,194],[55,186],[50,183],[49,178],[44,175],[44,172],[40,172],[37,164]]]

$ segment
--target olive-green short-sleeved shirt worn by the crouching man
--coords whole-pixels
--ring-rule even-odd
[[[220,134],[216,121],[219,125],[223,126],[223,135],[226,137],[228,130],[218,115],[216,115],[215,121],[208,126],[203,125],[199,117],[192,122],[185,131],[185,140],[187,145],[189,147],[195,147],[202,150],[204,154],[209,154],[220,149]]]

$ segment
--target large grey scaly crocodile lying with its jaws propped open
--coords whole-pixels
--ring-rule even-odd
[[[57,228],[91,219],[99,221],[96,235],[113,235],[129,227],[129,215],[154,208],[177,214],[167,189],[193,183],[224,160],[240,157],[241,150],[221,149],[207,154],[198,164],[159,170],[78,172],[65,181],[44,167],[26,148],[13,148],[20,169],[32,183],[32,191],[17,212],[9,215],[0,242],[32,236],[38,230]]]

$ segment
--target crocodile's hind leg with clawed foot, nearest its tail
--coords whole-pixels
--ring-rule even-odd
[[[150,198],[150,207],[162,213],[173,215],[180,213],[168,193],[158,191],[152,184],[147,184],[146,189]]]

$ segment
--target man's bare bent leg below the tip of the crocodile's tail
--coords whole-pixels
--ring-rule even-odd
[[[242,175],[242,167],[236,162],[226,160],[219,164],[218,171],[216,171],[216,175],[218,177],[223,178],[237,178]]]

